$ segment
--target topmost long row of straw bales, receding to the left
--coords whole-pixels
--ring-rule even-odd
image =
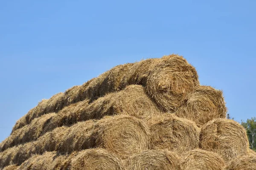
[[[148,94],[163,111],[174,112],[182,104],[186,94],[199,85],[199,81],[195,68],[186,59],[175,54],[159,59],[146,59],[137,63],[118,65],[84,85],[76,86],[65,94],[44,102],[44,105],[39,104],[17,121],[13,131],[29,124],[38,116],[49,112],[57,113],[63,106],[84,99],[92,102],[100,96],[120,91],[132,84],[145,86]],[[44,107],[41,108],[41,105]]]

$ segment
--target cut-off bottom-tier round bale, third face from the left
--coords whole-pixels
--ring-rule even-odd
[[[224,164],[217,153],[205,150],[191,150],[180,156],[182,170],[223,170]]]

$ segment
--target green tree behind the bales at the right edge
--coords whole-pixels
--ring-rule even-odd
[[[241,121],[247,132],[250,148],[256,151],[256,118],[247,119],[246,122]]]

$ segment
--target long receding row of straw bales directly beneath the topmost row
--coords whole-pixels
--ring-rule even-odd
[[[56,113],[49,113],[33,119],[9,136],[0,145],[0,150],[38,139],[55,127],[72,125],[78,121],[101,119],[106,115],[129,114],[138,118],[149,119],[160,113],[157,106],[147,96],[140,85],[129,85],[122,91],[111,93],[95,100],[90,105],[88,100],[74,103]]]

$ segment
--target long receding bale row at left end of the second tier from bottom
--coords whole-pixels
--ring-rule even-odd
[[[101,120],[78,122],[58,127],[34,142],[20,144],[0,152],[0,167],[21,164],[33,154],[45,151],[71,153],[92,147],[103,147],[122,158],[148,149],[149,130],[133,116],[107,116]]]

